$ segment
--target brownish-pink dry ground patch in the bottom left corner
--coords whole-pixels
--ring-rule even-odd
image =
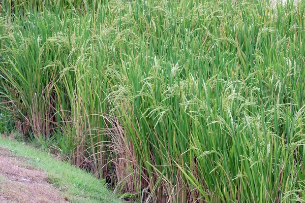
[[[26,159],[0,147],[0,203],[69,202]]]

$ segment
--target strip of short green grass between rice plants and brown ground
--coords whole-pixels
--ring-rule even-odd
[[[15,155],[29,158],[28,163],[46,172],[48,182],[61,188],[69,202],[121,202],[111,194],[103,181],[67,162],[51,157],[42,150],[2,137],[0,147],[9,149]]]

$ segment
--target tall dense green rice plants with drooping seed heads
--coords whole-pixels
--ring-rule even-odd
[[[303,0],[0,9],[1,111],[25,138],[141,201],[305,202]]]

